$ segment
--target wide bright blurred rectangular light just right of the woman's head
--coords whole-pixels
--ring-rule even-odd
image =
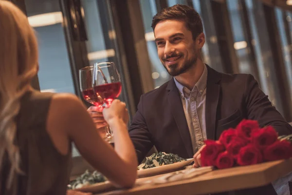
[[[49,26],[63,22],[62,12],[51,12],[28,17],[32,27]]]

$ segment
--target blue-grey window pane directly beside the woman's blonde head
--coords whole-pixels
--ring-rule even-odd
[[[74,93],[58,0],[29,0],[26,10],[38,39],[40,90]]]

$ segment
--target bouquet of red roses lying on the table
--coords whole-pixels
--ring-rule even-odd
[[[257,121],[243,119],[219,140],[205,140],[201,164],[225,169],[291,157],[292,135],[278,137],[272,126],[260,128]]]

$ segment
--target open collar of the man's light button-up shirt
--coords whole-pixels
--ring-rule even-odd
[[[203,74],[201,75],[198,82],[194,86],[194,88],[195,87],[198,88],[200,94],[203,93],[203,91],[205,90],[205,88],[207,86],[207,75],[208,75],[208,69],[207,69],[206,65],[204,65]],[[183,92],[184,86],[179,81],[177,81],[177,79],[175,79],[175,78],[174,78],[174,82],[175,82],[175,84],[176,84],[176,86],[181,94],[181,97],[184,98],[184,92]],[[192,92],[194,91],[194,88],[192,89]]]

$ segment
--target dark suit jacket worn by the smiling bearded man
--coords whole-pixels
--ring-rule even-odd
[[[207,68],[208,139],[218,139],[223,130],[236,127],[243,118],[257,120],[261,127],[272,125],[279,135],[292,134],[292,127],[272,106],[252,75],[223,74]],[[141,96],[129,135],[139,162],[153,145],[159,152],[193,157],[183,104],[174,79]]]

